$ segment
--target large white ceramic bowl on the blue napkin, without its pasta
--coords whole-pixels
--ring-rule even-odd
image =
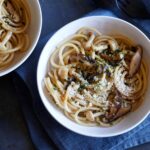
[[[66,37],[74,34],[79,28],[84,26],[94,27],[100,32],[108,35],[123,34],[135,41],[135,43],[141,44],[144,49],[144,59],[147,60],[149,64],[148,67],[150,69],[150,41],[138,28],[126,21],[113,17],[93,16],[82,18],[69,23],[58,30],[47,42],[42,51],[37,68],[37,84],[42,102],[47,111],[60,124],[76,133],[92,137],[110,137],[125,133],[135,128],[148,116],[150,112],[150,87],[148,87],[143,104],[136,111],[128,114],[119,124],[109,128],[87,127],[71,121],[63,114],[63,112],[59,108],[57,108],[44,88],[43,79],[47,74],[49,57],[55,49],[56,45]],[[150,76],[148,77],[148,82],[149,85]]]

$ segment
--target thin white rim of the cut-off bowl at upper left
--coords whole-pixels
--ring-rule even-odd
[[[39,0],[35,0],[35,3],[37,3],[37,8],[39,11],[39,30],[37,32],[37,37],[34,41],[34,44],[32,44],[31,48],[28,49],[28,52],[26,53],[26,55],[22,59],[20,59],[15,65],[8,68],[7,70],[4,70],[4,71],[2,70],[2,72],[0,72],[0,77],[5,76],[5,75],[11,73],[12,71],[16,70],[18,67],[20,67],[30,57],[30,55],[34,51],[34,49],[35,49],[35,47],[39,41],[41,31],[42,31],[42,20],[43,20],[43,18],[42,18],[42,10],[41,10],[41,5],[40,5]]]

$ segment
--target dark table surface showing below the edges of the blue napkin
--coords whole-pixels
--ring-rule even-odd
[[[149,150],[150,143],[131,150]],[[0,150],[34,150],[11,74],[0,78]]]

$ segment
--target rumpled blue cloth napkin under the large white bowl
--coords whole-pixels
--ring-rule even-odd
[[[68,2],[70,1],[68,0]],[[30,58],[19,69],[16,70],[16,73],[24,80],[24,83],[28,87],[29,91],[27,92],[26,87],[20,85],[20,82],[16,80],[17,76],[13,77],[16,91],[17,94],[19,95],[22,111],[24,113],[27,127],[29,129],[33,143],[35,144],[37,149],[42,150],[56,149],[56,147],[61,150],[71,150],[71,149],[121,150],[149,142],[150,117],[148,117],[142,124],[140,124],[132,131],[120,136],[116,136],[115,138],[114,137],[91,138],[78,135],[62,127],[50,116],[50,114],[44,108],[36,86],[37,62],[43,46],[45,45],[47,40],[52,36],[56,28],[59,28],[61,25],[63,25],[63,23],[65,24],[74,18],[82,17],[83,14],[85,14],[89,10],[93,9],[93,7],[95,7],[91,1],[88,1],[90,7],[86,7],[86,10],[83,11],[84,6],[87,5],[85,5],[83,1],[82,2],[80,1],[79,7],[77,7],[77,2],[79,1],[75,0],[74,2],[75,2],[74,4],[71,4],[73,10],[71,13],[68,11],[68,9],[70,10],[70,8],[68,7],[64,6],[64,8],[62,8],[61,4],[59,4],[59,7],[55,6],[56,8],[62,11],[62,13],[58,13],[55,16],[54,13],[51,12],[51,9],[46,9],[48,8],[48,6],[50,7],[51,4],[54,6],[54,3],[50,3],[48,1],[45,2],[44,0],[41,0],[44,19],[42,36]],[[74,10],[74,6],[75,8],[77,7],[78,10]],[[89,13],[88,16],[108,15],[124,18],[142,27],[147,34],[150,33],[149,28],[150,20],[141,20],[141,19],[132,20],[131,18],[122,15],[121,12],[116,11],[116,9],[111,10],[112,11],[97,9],[96,11]],[[79,15],[79,12],[81,15]],[[74,15],[75,17],[73,17],[72,13],[76,14]],[[68,14],[71,16],[71,18],[69,17]],[[66,17],[67,15],[68,17]],[[55,19],[57,22],[57,27],[56,26],[52,27],[51,22],[53,22],[52,24],[54,25]],[[31,93],[32,97],[27,96],[27,93],[28,94]]]

